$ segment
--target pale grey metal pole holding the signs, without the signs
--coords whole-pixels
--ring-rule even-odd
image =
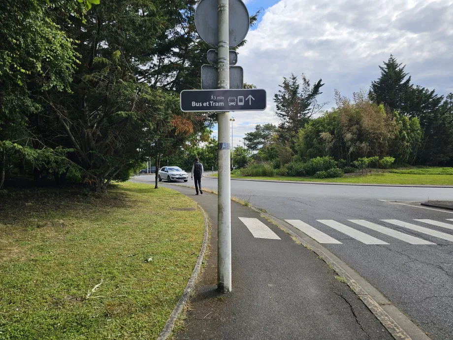
[[[229,0],[218,0],[218,84],[219,89],[229,89]],[[229,112],[217,114],[219,124],[219,198],[218,198],[218,257],[217,289],[231,291],[231,187]]]

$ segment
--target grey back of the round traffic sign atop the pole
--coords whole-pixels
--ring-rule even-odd
[[[250,16],[242,0],[229,0],[229,47],[239,45],[249,32]],[[217,47],[218,38],[217,0],[201,0],[195,10],[195,28],[208,45]]]

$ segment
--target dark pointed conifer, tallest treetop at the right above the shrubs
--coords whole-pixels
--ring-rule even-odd
[[[404,71],[406,65],[398,64],[390,54],[381,69],[381,77],[371,83],[370,99],[377,104],[386,104],[391,109],[405,111],[407,97],[412,89],[411,76]]]

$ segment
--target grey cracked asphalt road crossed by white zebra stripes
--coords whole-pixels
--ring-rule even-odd
[[[153,178],[141,176],[140,180],[152,181]],[[193,185],[191,180],[177,184]],[[217,189],[217,179],[203,178],[202,185]],[[232,180],[231,194],[280,219],[302,221],[337,243],[341,242],[323,245],[380,290],[432,339],[453,340],[453,211],[417,204],[428,199],[452,201],[453,188]],[[415,221],[419,219],[430,221]],[[404,233],[399,234],[403,239],[350,220],[386,227],[387,233]],[[414,226],[417,230],[409,229]],[[408,243],[408,235],[417,238],[411,238],[412,241],[433,244]]]

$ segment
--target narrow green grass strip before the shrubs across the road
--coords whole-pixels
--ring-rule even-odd
[[[341,178],[314,178],[314,177],[244,177],[231,175],[231,178],[280,180],[299,182],[327,182],[327,183],[362,183],[362,184],[407,184],[407,185],[453,185],[452,175],[417,175],[404,173],[369,173],[367,175],[345,175]]]

